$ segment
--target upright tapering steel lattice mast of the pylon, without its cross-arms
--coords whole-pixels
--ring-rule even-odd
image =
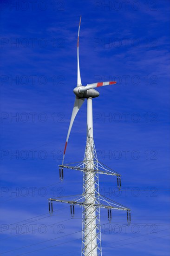
[[[82,256],[101,256],[101,229],[100,229],[100,199],[98,159],[91,136],[91,128],[87,137],[83,172],[83,212],[82,212]],[[86,204],[91,202],[95,206]],[[92,246],[91,246],[92,245]]]

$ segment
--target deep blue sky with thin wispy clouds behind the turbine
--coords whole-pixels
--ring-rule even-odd
[[[77,83],[116,80],[93,100],[100,193],[131,209],[101,210],[104,256],[169,255],[170,4],[156,1],[1,0],[1,253],[81,252],[81,208],[47,198],[82,193],[82,174],[58,165]],[[15,43],[16,42],[16,43]],[[86,102],[73,124],[65,162],[83,160]],[[4,254],[3,254],[4,253]]]

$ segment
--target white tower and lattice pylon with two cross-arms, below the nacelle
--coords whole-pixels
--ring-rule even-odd
[[[108,210],[108,220],[111,222],[111,209],[127,211],[128,222],[131,222],[130,209],[111,200],[106,200],[99,194],[98,175],[112,175],[117,177],[118,189],[121,187],[120,174],[98,161],[93,140],[92,127],[92,98],[87,99],[87,141],[83,162],[59,165],[59,176],[63,180],[63,169],[79,170],[83,172],[83,194],[74,199],[65,200],[61,197],[50,198],[49,212],[52,214],[52,202],[65,202],[71,205],[71,215],[74,216],[74,206],[82,206],[82,256],[102,256],[100,208]],[[73,196],[70,196],[73,197]],[[106,199],[105,199],[106,198]],[[51,205],[50,205],[51,202]]]

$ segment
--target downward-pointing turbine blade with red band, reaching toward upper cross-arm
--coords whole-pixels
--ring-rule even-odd
[[[75,102],[74,102],[74,107],[72,109],[72,117],[71,117],[71,120],[70,120],[70,125],[69,125],[69,128],[68,128],[68,133],[67,133],[67,137],[66,137],[66,141],[65,141],[65,148],[64,148],[64,154],[63,154],[63,161],[62,161],[62,164],[64,163],[64,158],[65,158],[65,151],[66,151],[66,147],[67,147],[67,142],[68,142],[68,139],[69,139],[69,136],[70,136],[70,132],[71,132],[71,129],[72,129],[72,124],[74,122],[74,119],[78,113],[78,110],[81,108],[83,102],[85,101],[84,98],[78,98],[76,96],[76,99],[75,99]]]

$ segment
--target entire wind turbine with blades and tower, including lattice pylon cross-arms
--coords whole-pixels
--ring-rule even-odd
[[[117,176],[118,188],[121,187],[120,174],[106,167],[98,161],[93,141],[93,119],[92,119],[92,99],[99,96],[98,91],[94,88],[101,86],[116,84],[115,81],[98,82],[82,86],[80,68],[79,68],[79,31],[81,17],[78,27],[77,40],[77,87],[73,92],[76,95],[72,117],[66,137],[64,155],[62,164],[59,165],[59,176],[63,180],[63,168],[75,169],[83,172],[83,194],[74,199],[65,200],[60,198],[49,199],[49,212],[52,214],[52,201],[66,202],[71,205],[71,215],[74,216],[74,205],[80,205],[83,208],[82,220],[82,256],[102,256],[101,249],[101,230],[100,230],[100,208],[108,210],[108,219],[111,222],[111,209],[127,211],[128,222],[131,222],[130,209],[120,205],[114,201],[106,200],[105,196],[99,194],[98,174],[106,174]],[[81,108],[83,102],[87,99],[87,140],[85,148],[85,156],[83,162],[64,164],[65,151],[72,129],[74,119]],[[72,196],[73,197],[73,196]],[[50,206],[51,202],[51,206]]]

